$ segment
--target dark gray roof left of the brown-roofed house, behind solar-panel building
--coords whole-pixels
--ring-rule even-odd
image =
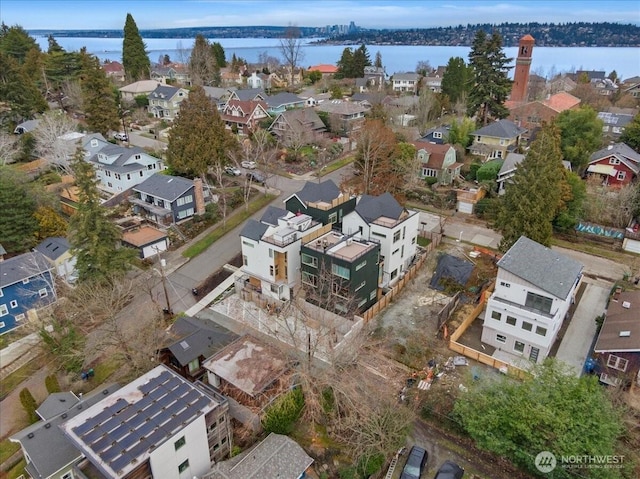
[[[183,366],[200,356],[212,356],[239,337],[213,321],[189,316],[178,318],[171,333],[179,339],[168,349]]]

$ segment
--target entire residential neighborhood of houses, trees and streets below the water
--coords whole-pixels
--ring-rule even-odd
[[[2,474],[638,477],[639,77],[124,35],[0,32]]]

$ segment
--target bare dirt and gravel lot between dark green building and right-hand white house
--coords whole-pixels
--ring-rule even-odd
[[[450,294],[446,294],[435,291],[429,288],[429,282],[437,265],[438,254],[441,252],[473,261],[477,265],[464,287],[465,291],[471,289],[472,292],[462,293],[458,312],[448,322],[449,332],[452,332],[475,305],[476,290],[479,290],[488,278],[495,276],[493,259],[482,256],[477,259],[469,258],[470,251],[469,246],[455,242],[441,245],[430,254],[412,284],[378,316],[377,337],[381,340],[382,348],[390,359],[402,363],[395,369],[396,374],[401,377],[398,381],[392,381],[394,385],[406,384],[412,371],[417,375],[417,380],[423,379],[430,360],[435,360],[439,370],[443,371],[446,360],[455,355],[447,348],[442,331],[438,329],[437,318],[438,311],[451,299],[453,292],[447,291]],[[427,391],[418,390],[416,387],[406,391],[406,400],[415,405],[419,415],[426,406],[431,411],[431,417],[435,419],[433,423],[416,420],[407,447],[416,444],[424,447],[429,453],[428,472],[425,477],[432,477],[440,464],[447,459],[463,466],[467,471],[465,477],[469,478],[530,477],[513,468],[501,457],[476,449],[470,439],[449,430],[450,423],[445,415],[451,408],[460,384],[470,380],[472,373],[498,374],[492,368],[470,361],[467,366],[444,371],[444,375],[436,379]],[[400,394],[400,391],[398,393]],[[394,478],[400,477],[405,460],[406,457],[401,457],[398,461]]]

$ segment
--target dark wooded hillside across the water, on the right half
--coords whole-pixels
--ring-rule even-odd
[[[504,46],[513,47],[526,34],[540,47],[638,47],[640,26],[618,23],[501,23],[409,30],[366,30],[335,36],[320,43],[367,45],[471,46],[478,30],[497,31]]]

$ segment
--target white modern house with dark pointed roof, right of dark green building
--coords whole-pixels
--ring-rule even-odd
[[[342,232],[380,243],[381,287],[392,286],[416,256],[420,215],[390,193],[363,195],[342,219]]]

